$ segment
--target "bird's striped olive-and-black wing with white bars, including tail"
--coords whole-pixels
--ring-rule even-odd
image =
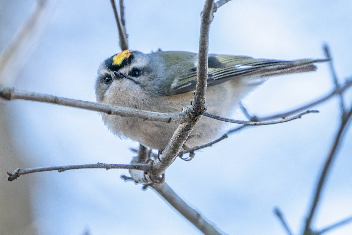
[[[212,55],[208,57],[208,81],[207,86],[214,86],[230,79],[240,76],[257,75],[268,77],[290,73],[301,73],[314,71],[316,67],[313,63],[324,62],[322,60],[294,60],[279,61],[267,59],[254,59],[246,56]],[[184,71],[184,69],[183,69]],[[196,88],[197,68],[190,67],[183,74],[177,74],[166,95],[182,94],[194,91]]]

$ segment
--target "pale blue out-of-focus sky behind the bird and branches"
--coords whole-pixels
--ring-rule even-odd
[[[0,1],[1,47],[35,1]],[[56,4],[52,3],[51,4]],[[204,1],[126,1],[130,48],[198,51]],[[292,60],[322,58],[331,46],[341,81],[352,74],[352,2],[234,0],[215,13],[209,52]],[[110,2],[61,1],[33,54],[12,84],[18,89],[95,101],[99,64],[120,51]],[[258,116],[287,111],[333,88],[327,64],[275,77],[244,101]],[[351,92],[346,94],[350,101]],[[350,102],[348,102],[350,104]],[[6,104],[12,139],[31,167],[129,163],[138,144],[110,134],[98,113],[29,101]],[[190,162],[177,159],[166,182],[228,234],[284,234],[279,206],[298,233],[339,123],[338,99],[289,123],[243,130]],[[238,118],[244,118],[241,115]],[[327,182],[316,228],[352,214],[352,129]],[[13,168],[20,166],[13,166]],[[9,169],[11,170],[11,169]],[[152,190],[122,181],[127,171],[102,169],[26,175],[40,234],[199,234]],[[21,178],[23,178],[21,177]],[[18,179],[18,180],[21,180]],[[16,187],[16,182],[13,182]],[[351,234],[346,225],[330,234]]]

